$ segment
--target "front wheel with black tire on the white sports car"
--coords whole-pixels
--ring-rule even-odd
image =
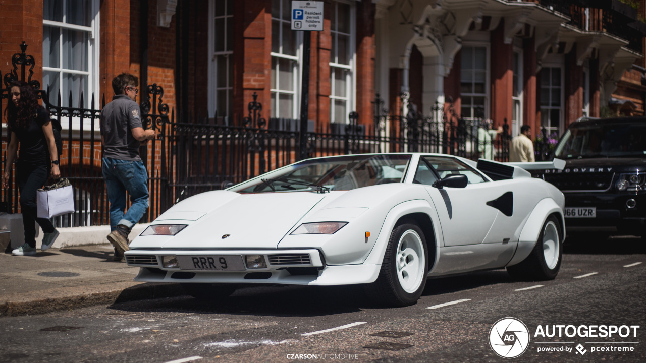
[[[422,295],[427,273],[424,233],[412,223],[397,225],[390,234],[379,277],[367,285],[366,292],[382,304],[409,306]]]

